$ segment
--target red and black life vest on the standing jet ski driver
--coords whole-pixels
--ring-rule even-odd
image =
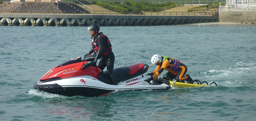
[[[112,45],[106,35],[104,35],[102,32],[99,32],[99,35],[97,35],[95,38],[92,39],[92,47],[95,55],[98,53],[98,45],[97,41],[99,38],[103,38],[105,41],[108,41],[108,45],[103,48],[102,55],[109,54],[109,51],[112,50]]]

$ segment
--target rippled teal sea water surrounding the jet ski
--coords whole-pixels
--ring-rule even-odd
[[[253,121],[256,28],[238,25],[101,27],[115,67],[149,64],[154,54],[181,60],[194,80],[217,87],[62,96],[33,89],[51,68],[87,53],[87,27],[0,27],[1,121]],[[164,75],[166,71],[162,73]]]

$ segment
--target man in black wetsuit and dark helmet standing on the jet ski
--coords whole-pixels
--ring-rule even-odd
[[[94,66],[96,65],[98,59],[101,58],[98,67],[102,71],[105,67],[107,67],[108,75],[110,76],[113,84],[117,85],[116,77],[113,73],[115,55],[112,52],[112,45],[108,37],[102,32],[99,32],[99,29],[100,28],[98,24],[92,24],[88,27],[88,30],[92,35],[92,49],[89,51],[89,53],[85,54],[85,56],[92,54],[93,52],[95,53],[95,60],[92,61]]]

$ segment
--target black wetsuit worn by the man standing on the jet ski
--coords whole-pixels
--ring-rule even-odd
[[[96,35],[96,37],[99,35],[99,33]],[[93,41],[95,41],[95,38],[93,38]],[[112,49],[109,49],[109,54],[103,55],[103,50],[107,48],[108,46],[108,37],[105,38],[98,38],[96,42],[98,46],[98,52],[96,54],[95,59],[100,59],[98,67],[103,71],[105,67],[107,67],[108,75],[110,76],[112,82],[114,85],[117,85],[116,77],[113,73],[114,69],[114,62],[115,62],[115,55],[112,52]],[[105,48],[104,48],[105,47]],[[89,54],[92,54],[94,47],[92,46],[92,49],[89,51]]]

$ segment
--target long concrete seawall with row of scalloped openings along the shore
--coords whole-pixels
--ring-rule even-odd
[[[144,16],[144,15],[79,15],[79,14],[0,14],[0,25],[16,26],[101,26],[178,25],[217,22],[214,16]]]

